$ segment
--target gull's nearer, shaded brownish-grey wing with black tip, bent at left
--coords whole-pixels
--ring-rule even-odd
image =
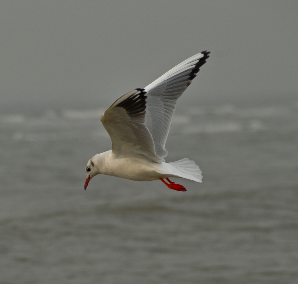
[[[155,162],[153,138],[145,125],[147,98],[144,89],[135,89],[114,102],[100,118],[111,137],[112,151],[129,156],[144,155]]]

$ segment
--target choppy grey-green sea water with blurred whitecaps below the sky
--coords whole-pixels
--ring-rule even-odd
[[[203,183],[94,177],[103,110],[0,115],[0,283],[298,283],[298,107],[177,110],[166,162]]]

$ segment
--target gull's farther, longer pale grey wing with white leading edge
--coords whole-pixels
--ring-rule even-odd
[[[152,135],[156,155],[161,158],[167,156],[164,145],[176,109],[176,101],[200,71],[200,67],[206,63],[209,53],[203,51],[188,58],[145,87],[145,124]]]

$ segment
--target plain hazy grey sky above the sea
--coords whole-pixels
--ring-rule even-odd
[[[1,1],[0,111],[105,108],[188,57],[186,104],[297,100],[298,1]]]

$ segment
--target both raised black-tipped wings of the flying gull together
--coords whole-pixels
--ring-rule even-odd
[[[178,98],[210,52],[200,52],[159,77],[145,89],[116,100],[100,118],[116,154],[143,155],[160,163]]]

